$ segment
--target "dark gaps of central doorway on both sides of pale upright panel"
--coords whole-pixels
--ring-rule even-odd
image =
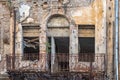
[[[69,71],[69,38],[54,37],[55,63],[58,64],[58,71]],[[51,53],[51,37],[48,38],[48,53]],[[50,55],[50,54],[49,54]],[[51,56],[49,57],[49,69],[51,69]]]

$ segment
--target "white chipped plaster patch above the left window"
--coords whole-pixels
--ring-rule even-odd
[[[24,21],[30,14],[30,6],[22,4],[19,8],[20,22]]]

